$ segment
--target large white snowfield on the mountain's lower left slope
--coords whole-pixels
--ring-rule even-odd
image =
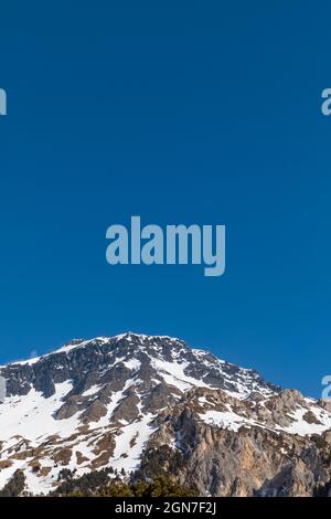
[[[70,469],[76,468],[77,476],[88,472],[90,462],[96,458],[96,454],[93,452],[96,442],[103,437],[105,431],[111,431],[113,413],[125,398],[127,389],[132,384],[136,384],[136,381],[129,379],[120,391],[113,393],[111,400],[107,405],[106,416],[94,424],[89,424],[90,435],[83,434],[77,439],[70,439],[70,437],[77,432],[77,427],[81,425],[79,412],[67,420],[54,420],[53,417],[54,413],[63,404],[63,398],[72,390],[71,381],[56,384],[55,394],[49,399],[45,399],[34,389],[31,389],[26,395],[8,398],[4,404],[0,406],[0,441],[3,439],[0,458],[7,459],[9,449],[12,447],[15,448],[17,453],[24,452],[26,446],[40,445],[52,435],[58,435],[63,442],[62,446],[72,448],[72,456],[66,467]],[[84,394],[94,394],[99,388],[94,385]],[[141,403],[139,403],[139,410],[141,411]],[[116,433],[114,435],[116,447],[114,458],[109,460],[108,466],[111,465],[118,470],[125,468],[126,472],[137,468],[143,446],[152,432],[156,431],[156,426],[150,423],[153,417],[152,414],[146,414],[134,423],[124,424],[121,427],[113,427],[114,433]],[[77,452],[87,458],[81,465],[77,465]],[[47,476],[39,477],[29,467],[29,460],[31,459],[12,459],[10,467],[0,470],[0,488],[6,485],[18,468],[24,468],[29,491],[33,494],[47,494],[52,489],[53,483],[56,481],[62,465],[54,466],[54,462],[47,455],[44,455],[40,459],[41,466],[52,467],[52,469]]]

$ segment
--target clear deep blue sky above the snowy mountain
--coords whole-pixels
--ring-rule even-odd
[[[0,361],[173,335],[331,372],[330,2],[1,4]],[[113,223],[226,224],[227,269],[105,261]]]

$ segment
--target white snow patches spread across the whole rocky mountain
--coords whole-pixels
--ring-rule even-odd
[[[146,336],[138,333],[122,333],[115,336],[114,338],[97,337],[92,340],[81,340],[77,339],[53,353],[68,353],[78,348],[85,348],[88,345],[97,341],[97,343],[107,343],[114,340],[127,339],[129,343],[134,339],[138,339],[137,350],[143,351],[145,341],[148,341],[149,347],[153,348],[152,356],[150,357],[151,367],[156,370],[154,378],[152,382],[159,384],[160,380],[171,385],[181,392],[186,392],[192,388],[214,388],[211,384],[206,384],[201,379],[195,379],[194,377],[185,374],[186,368],[190,368],[190,362],[185,359],[186,356],[183,356],[186,351],[186,347],[182,341],[178,339],[168,337],[168,336]],[[162,347],[157,343],[157,339],[167,339],[164,343],[169,346],[167,352],[167,361],[162,357]],[[177,342],[173,345],[172,342]],[[116,345],[115,345],[116,346]],[[29,462],[31,459],[13,459],[12,466],[0,470],[0,488],[8,481],[12,474],[18,468],[24,468],[28,487],[35,494],[44,492],[47,494],[52,489],[52,484],[56,481],[60,470],[63,468],[61,464],[58,466],[54,465],[54,460],[51,458],[52,449],[57,446],[70,447],[72,449],[72,456],[68,462],[67,468],[77,469],[77,476],[88,472],[90,469],[90,463],[95,459],[99,453],[96,455],[94,449],[97,446],[99,439],[103,438],[104,434],[110,432],[114,435],[115,439],[115,449],[114,455],[110,457],[106,466],[113,466],[118,470],[122,468],[129,473],[135,470],[141,459],[141,453],[145,448],[146,443],[150,438],[151,434],[157,430],[153,419],[156,415],[149,413],[145,414],[142,411],[141,401],[138,404],[139,416],[134,422],[119,421],[115,423],[111,421],[114,412],[126,398],[126,392],[129,388],[134,386],[136,390],[137,396],[139,395],[139,383],[142,381],[137,380],[137,371],[141,368],[141,362],[136,357],[137,354],[130,356],[126,353],[120,357],[119,352],[116,351],[117,348],[111,348],[107,356],[107,362],[100,364],[98,377],[102,377],[104,371],[107,371],[109,368],[122,363],[130,372],[127,377],[124,388],[119,391],[114,392],[110,395],[110,401],[107,404],[106,415],[100,417],[99,421],[88,424],[88,431],[86,428],[79,432],[81,414],[83,410],[77,412],[74,416],[65,420],[55,420],[55,413],[63,405],[63,400],[65,395],[72,390],[73,384],[71,380],[55,385],[55,394],[50,398],[44,398],[41,392],[31,389],[26,395],[17,395],[10,396],[4,400],[4,403],[0,405],[0,442],[3,442],[0,452],[0,459],[7,459],[10,455],[13,454],[14,449],[17,454],[24,454],[26,447],[34,447],[41,445],[43,442],[51,439],[52,435],[57,435],[58,439],[51,442],[50,447],[43,447],[42,456],[39,459],[42,467],[52,467],[50,474],[45,477],[39,477],[38,474],[33,473],[29,467]],[[250,391],[258,391],[264,394],[266,401],[268,396],[275,394],[271,390],[266,388],[260,388],[259,382],[256,380],[257,375],[252,370],[245,370],[236,368],[233,374],[233,370],[228,370],[229,363],[218,360],[214,357],[210,357],[211,353],[204,350],[191,350],[193,356],[199,362],[200,366],[204,367],[204,371],[207,372],[211,370],[220,370],[220,373],[227,386],[228,390],[224,392],[232,398],[238,400],[246,399]],[[122,350],[121,350],[122,353]],[[17,362],[17,364],[34,364],[38,361],[49,357],[50,354],[43,357],[36,357],[26,361]],[[172,361],[169,361],[172,359]],[[226,364],[226,366],[225,366]],[[61,369],[62,366],[58,366],[57,369]],[[160,378],[160,380],[158,380]],[[97,383],[103,379],[98,378],[95,382],[95,385],[84,391],[82,396],[94,396],[96,395],[105,384]],[[231,385],[229,385],[231,384]],[[234,388],[234,389],[232,389]],[[145,388],[142,392],[145,391]],[[173,389],[173,392],[175,390]],[[145,393],[143,393],[145,394]],[[174,394],[174,398],[180,399],[181,395]],[[225,398],[226,399],[226,398]],[[93,401],[92,399],[90,401]],[[302,406],[298,406],[290,416],[292,423],[288,427],[280,427],[276,424],[273,425],[274,428],[267,426],[263,422],[257,422],[253,419],[247,417],[248,413],[243,411],[243,415],[239,410],[241,407],[234,407],[236,412],[233,411],[231,404],[224,403],[222,406],[215,405],[217,399],[207,399],[205,396],[199,398],[199,403],[205,407],[204,412],[199,413],[200,420],[204,423],[221,428],[227,428],[234,432],[237,432],[241,426],[258,426],[267,430],[271,430],[280,434],[281,431],[289,434],[299,434],[301,436],[308,434],[321,434],[327,430],[331,430],[331,414],[327,413],[324,410],[316,405],[316,402],[311,399],[306,399],[306,403]],[[233,402],[233,400],[228,399]],[[259,402],[257,405],[264,405],[263,402]],[[243,407],[244,409],[244,407]],[[303,416],[307,411],[313,412],[316,417],[321,422],[321,424],[309,424],[305,421]],[[159,410],[158,410],[159,412]],[[247,414],[247,415],[245,415]],[[256,415],[255,415],[256,416]],[[76,435],[76,436],[75,436]],[[180,439],[178,439],[180,442]],[[45,443],[45,445],[47,445]],[[175,443],[171,443],[172,448],[175,448]],[[87,458],[81,465],[77,465],[76,454],[82,453],[82,455]]]

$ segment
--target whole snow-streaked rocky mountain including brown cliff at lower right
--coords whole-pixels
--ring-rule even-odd
[[[331,480],[328,403],[179,339],[76,339],[0,368],[0,488],[63,469],[175,477],[201,496],[312,496]],[[113,477],[109,475],[109,477]]]

